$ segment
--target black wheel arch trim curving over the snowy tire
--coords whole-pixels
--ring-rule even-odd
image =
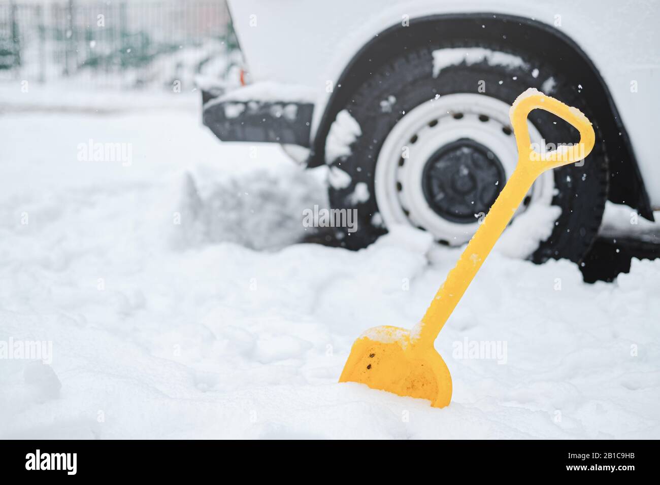
[[[437,39],[478,39],[514,52],[534,53],[552,65],[565,66],[570,79],[582,84],[581,94],[593,107],[593,123],[600,127],[607,142],[610,181],[613,182],[609,188],[609,200],[625,203],[653,220],[628,133],[595,65],[566,34],[541,22],[517,16],[492,13],[426,16],[411,19],[409,27],[396,25],[375,36],[356,53],[339,77],[312,142],[309,166],[325,162],[325,139],[330,125],[366,77],[393,56],[434,44]]]

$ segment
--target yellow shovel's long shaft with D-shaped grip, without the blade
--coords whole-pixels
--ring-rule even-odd
[[[537,108],[554,113],[576,127],[580,134],[579,142],[548,153],[536,152],[529,139],[527,115]],[[517,166],[488,211],[488,215],[465,247],[456,266],[449,271],[447,279],[440,286],[424,317],[411,332],[411,340],[416,345],[433,345],[449,315],[508,226],[535,179],[546,170],[585,158],[595,143],[593,127],[585,115],[576,108],[566,106],[535,89],[527,90],[518,96],[513,102],[510,118],[518,146]]]

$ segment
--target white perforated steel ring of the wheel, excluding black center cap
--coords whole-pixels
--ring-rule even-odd
[[[424,197],[422,172],[438,148],[467,138],[491,150],[508,179],[517,162],[515,137],[505,132],[511,130],[509,108],[496,98],[460,93],[440,96],[406,113],[387,135],[376,162],[376,203],[385,226],[410,224],[431,232],[436,240],[449,245],[469,241],[479,227],[479,214],[475,214],[475,222],[467,224],[440,216]],[[459,114],[462,117],[455,118]],[[534,125],[529,121],[528,125],[531,142],[545,143]],[[405,148],[409,156],[402,162]],[[521,205],[515,215],[533,204],[550,205],[553,193],[552,172],[545,172],[530,190],[528,203]]]

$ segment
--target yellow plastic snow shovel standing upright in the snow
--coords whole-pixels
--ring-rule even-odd
[[[554,113],[576,127],[579,143],[552,152],[536,152],[527,128],[527,115],[536,108]],[[585,158],[595,143],[593,127],[583,113],[535,89],[518,96],[509,115],[518,147],[518,164],[422,321],[412,330],[390,326],[368,329],[354,342],[339,382],[359,382],[399,396],[428,399],[438,408],[451,401],[451,375],[434,348],[438,333],[535,179],[546,170]]]

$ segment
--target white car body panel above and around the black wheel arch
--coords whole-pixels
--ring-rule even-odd
[[[651,206],[660,208],[655,110],[660,108],[657,1],[601,0],[229,0],[253,82],[306,86],[314,93],[312,137],[350,59],[374,36],[409,18],[449,13],[527,17],[560,30],[594,63],[632,141]],[[310,32],[313,32],[310,35]],[[273,55],[273,49],[277,55]]]

